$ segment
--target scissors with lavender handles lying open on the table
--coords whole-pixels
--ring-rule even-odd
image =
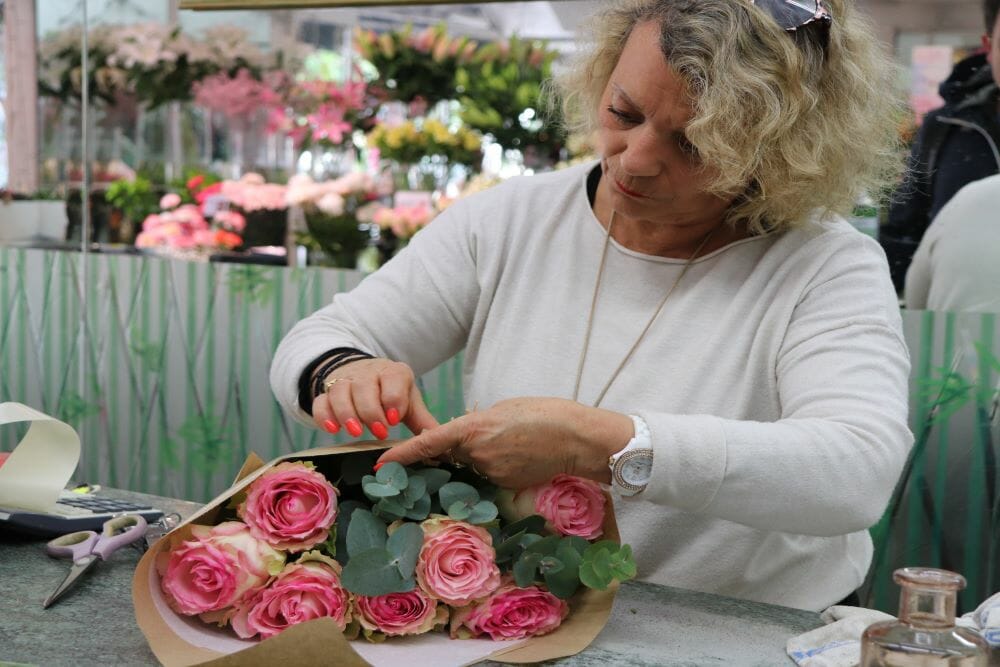
[[[100,535],[92,530],[81,530],[51,540],[45,550],[53,558],[70,558],[73,567],[59,587],[42,604],[43,609],[63,596],[73,587],[84,572],[127,544],[142,539],[146,534],[146,520],[138,514],[125,514],[108,519]]]

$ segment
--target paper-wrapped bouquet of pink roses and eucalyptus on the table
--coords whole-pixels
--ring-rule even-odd
[[[421,640],[406,644],[419,664],[544,660],[593,640],[635,575],[600,485],[560,475],[512,492],[466,468],[374,471],[385,447],[251,457],[155,545],[133,599],[157,657],[253,660],[292,632],[293,660],[329,646],[373,664],[394,637]]]

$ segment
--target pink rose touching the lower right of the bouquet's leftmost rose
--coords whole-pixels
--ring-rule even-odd
[[[340,563],[310,551],[285,567],[267,588],[245,598],[230,618],[244,639],[272,637],[285,628],[329,616],[343,630],[351,620],[351,594],[340,585]]]

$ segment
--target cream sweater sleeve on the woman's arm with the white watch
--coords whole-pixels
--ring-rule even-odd
[[[913,442],[909,358],[884,255],[852,240],[810,285],[777,352],[780,418],[643,413],[654,445],[646,500],[804,535],[880,518]]]

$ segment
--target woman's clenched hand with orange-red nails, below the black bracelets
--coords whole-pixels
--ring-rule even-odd
[[[316,424],[336,433],[342,427],[358,438],[367,426],[379,440],[388,426],[402,422],[414,435],[438,425],[417,388],[413,371],[388,359],[360,359],[341,366],[325,381],[327,390],[313,400]]]

